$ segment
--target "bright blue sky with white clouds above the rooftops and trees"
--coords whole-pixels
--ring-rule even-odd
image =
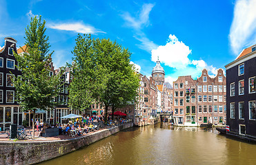
[[[78,33],[110,38],[132,52],[150,76],[159,56],[170,83],[178,76],[214,75],[256,43],[256,0],[50,1],[0,0],[0,47],[12,36],[24,43],[30,17],[46,20],[55,67],[71,63]]]

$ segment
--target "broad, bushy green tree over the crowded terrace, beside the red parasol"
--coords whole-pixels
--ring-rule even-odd
[[[83,72],[77,81],[87,81],[88,85],[86,94],[82,94],[104,103],[105,121],[109,107],[112,107],[113,113],[117,107],[135,101],[139,77],[130,65],[131,54],[127,49],[110,39],[79,35],[74,52],[77,52],[73,59],[75,74]],[[81,65],[83,67],[79,67]],[[92,101],[88,101],[88,106]]]

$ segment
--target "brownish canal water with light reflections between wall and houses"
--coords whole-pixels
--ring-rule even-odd
[[[256,164],[256,145],[215,129],[132,127],[41,164]]]

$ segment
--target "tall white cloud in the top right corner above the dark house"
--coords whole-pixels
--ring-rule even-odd
[[[236,55],[243,47],[256,43],[255,6],[256,0],[238,0],[235,3],[229,40],[231,49]]]

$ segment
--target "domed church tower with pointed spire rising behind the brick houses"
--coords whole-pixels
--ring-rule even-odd
[[[152,79],[155,80],[157,85],[163,85],[164,84],[164,68],[161,67],[159,58],[157,59],[157,65],[153,67],[152,69]]]

